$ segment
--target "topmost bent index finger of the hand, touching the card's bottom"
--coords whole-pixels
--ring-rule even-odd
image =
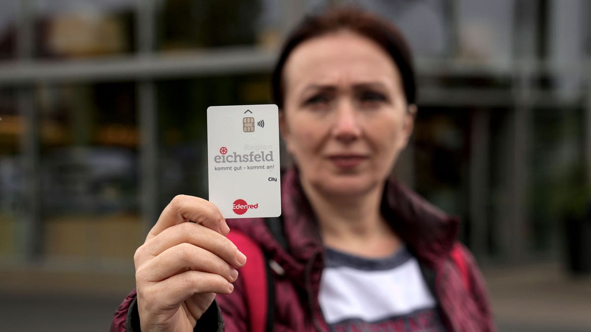
[[[168,227],[189,220],[215,230],[221,235],[228,235],[230,232],[230,227],[228,227],[222,213],[213,203],[199,197],[177,195],[164,208],[146,239],[157,236]]]

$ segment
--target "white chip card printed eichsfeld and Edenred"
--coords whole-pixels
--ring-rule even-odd
[[[281,214],[277,105],[207,108],[209,200],[225,218]]]

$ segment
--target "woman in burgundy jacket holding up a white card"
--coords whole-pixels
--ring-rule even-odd
[[[400,34],[357,9],[306,18],[284,45],[273,88],[296,164],[277,221],[287,246],[262,219],[228,222],[279,266],[274,330],[493,330],[457,221],[389,178],[417,112]],[[174,198],[135,253],[137,296],[112,330],[248,330],[236,270],[246,257],[228,233],[213,204]]]

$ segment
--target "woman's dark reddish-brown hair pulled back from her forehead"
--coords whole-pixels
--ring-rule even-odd
[[[349,30],[378,44],[398,67],[407,103],[415,103],[416,86],[413,61],[407,41],[394,25],[374,14],[355,7],[333,8],[318,15],[309,15],[288,35],[272,74],[272,95],[283,108],[283,70],[291,52],[301,43],[329,32]]]

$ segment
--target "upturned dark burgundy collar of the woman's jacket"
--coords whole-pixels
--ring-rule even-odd
[[[281,256],[297,265],[298,268],[294,268],[299,270],[312,255],[323,252],[323,246],[297,168],[291,168],[282,178],[281,209],[291,257]],[[459,228],[456,217],[447,216],[394,178],[389,178],[385,185],[381,209],[385,219],[419,261],[435,269],[447,257]],[[268,252],[284,252],[277,248],[277,241],[273,240],[262,219],[238,220],[230,227],[247,233]]]

